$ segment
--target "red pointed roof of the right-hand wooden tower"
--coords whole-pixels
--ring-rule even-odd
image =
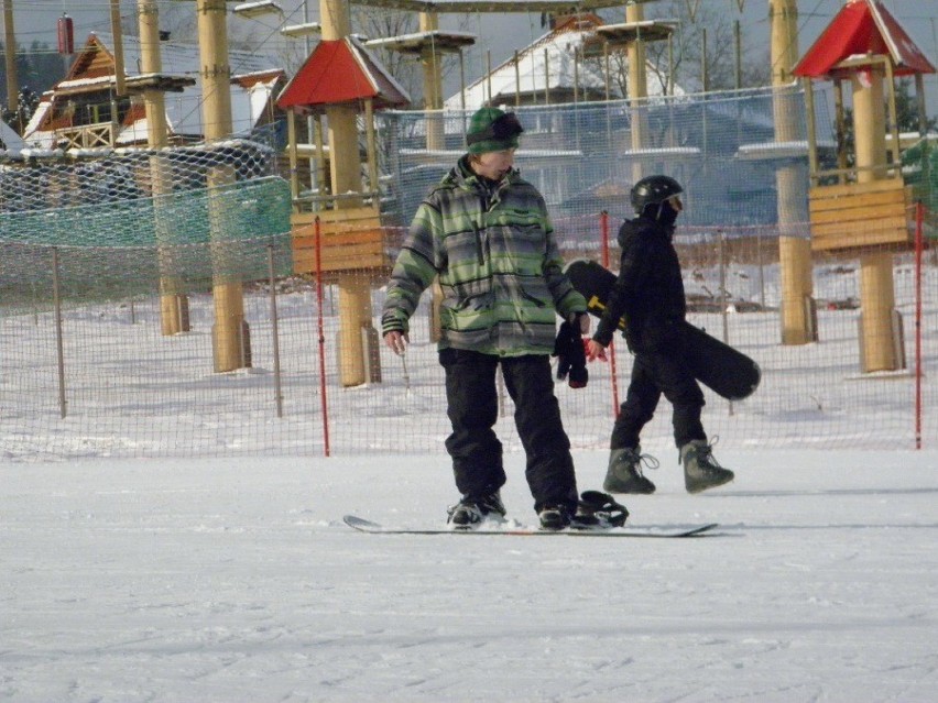
[[[890,56],[896,76],[935,73],[925,54],[879,0],[851,0],[843,6],[793,73],[822,78],[846,58],[866,54]]]

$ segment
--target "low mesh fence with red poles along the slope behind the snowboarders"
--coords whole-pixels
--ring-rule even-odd
[[[570,223],[577,230],[591,228],[592,234],[590,241],[567,248],[567,257],[582,255],[591,246],[599,251],[599,220],[592,220],[591,224]],[[566,222],[558,224],[563,228]],[[914,254],[894,256],[906,367],[868,374],[860,365],[859,261],[840,257],[816,264],[819,339],[783,345],[775,242],[776,233],[766,228],[745,232],[701,229],[677,238],[689,319],[753,356],[763,372],[761,387],[745,400],[731,404],[706,392],[708,432],[718,435],[727,447],[913,448]],[[271,268],[285,245],[285,241],[270,240],[242,243],[253,248],[252,257],[266,257]],[[17,253],[22,254],[22,248]],[[51,251],[41,253],[30,252],[33,265],[52,266]],[[617,251],[610,253],[615,261]],[[154,259],[156,250],[135,249],[134,255],[141,261]],[[938,436],[938,416],[928,409],[934,407],[938,377],[938,265],[934,252],[923,264],[926,410],[918,431],[927,443],[927,438]],[[126,277],[139,275],[127,261],[117,260],[114,265]],[[370,272],[361,276],[373,279]],[[45,278],[54,276],[50,273]],[[62,282],[69,278],[59,279],[63,290],[68,284]],[[142,283],[152,285],[153,281],[141,277],[138,284]],[[314,283],[310,277],[274,275],[246,284],[251,366],[229,373],[212,370],[210,286],[189,286],[192,329],[168,337],[161,334],[160,301],[152,290],[92,301],[86,298],[61,312],[55,309],[55,295],[36,295],[31,309],[25,304],[15,310],[4,308],[0,319],[0,451],[8,460],[257,452],[319,455],[326,451],[327,425],[334,454],[441,451],[449,427],[443,370],[430,341],[428,301],[424,300],[414,318],[406,356],[397,358],[379,344],[371,350],[374,367],[368,381],[345,387],[339,369],[339,293],[327,283],[320,303]],[[67,299],[69,295],[62,292],[57,297]],[[373,288],[369,317],[375,326],[382,301],[382,289]],[[373,337],[362,339],[364,344]],[[614,353],[615,386],[610,363],[590,365],[586,388],[557,384],[575,447],[603,448],[608,443],[632,359],[622,340],[614,344]],[[499,435],[508,450],[517,450],[512,415],[511,399],[502,393]],[[643,435],[645,448],[669,447],[670,431],[669,406],[663,402]]]

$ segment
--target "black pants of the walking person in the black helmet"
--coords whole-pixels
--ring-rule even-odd
[[[642,428],[654,417],[662,394],[674,408],[674,441],[678,448],[707,439],[700,411],[704,392],[679,353],[672,350],[635,354],[632,381],[612,428],[610,449],[636,449]]]

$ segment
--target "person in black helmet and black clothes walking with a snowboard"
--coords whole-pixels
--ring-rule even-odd
[[[642,473],[642,466],[657,468],[658,462],[642,454],[639,440],[662,395],[674,408],[674,439],[687,491],[699,493],[733,480],[733,472],[713,459],[700,421],[704,393],[684,360],[687,304],[672,242],[683,193],[677,180],[661,175],[642,178],[632,188],[637,217],[619,230],[619,276],[588,343],[587,358],[602,358],[625,316],[625,342],[635,359],[625,402],[612,428],[603,483],[610,493],[654,493],[655,484]]]

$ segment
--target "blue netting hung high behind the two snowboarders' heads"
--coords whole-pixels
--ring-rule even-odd
[[[816,98],[822,158],[832,156],[830,102]],[[663,173],[685,187],[687,224],[774,224],[776,173],[799,185],[790,221],[807,221],[807,124],[800,89],[752,89],[630,102],[501,106],[524,127],[515,166],[554,217],[631,216],[629,190]],[[775,113],[788,121],[776,136]],[[385,209],[404,221],[463,153],[469,112],[388,111],[380,116]]]

